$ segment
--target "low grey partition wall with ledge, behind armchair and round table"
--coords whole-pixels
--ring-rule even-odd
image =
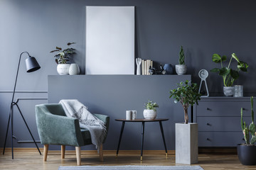
[[[48,76],[48,101],[77,98],[91,113],[110,115],[110,129],[105,149],[117,149],[121,122],[125,111],[137,111],[143,118],[144,103],[149,99],[159,104],[156,118],[169,118],[163,122],[168,149],[175,146],[175,123],[183,122],[183,108],[169,99],[170,89],[180,81],[191,80],[191,75],[137,76],[137,75],[78,75]],[[74,90],[75,89],[75,90]],[[191,118],[189,111],[189,118]],[[142,123],[126,123],[120,149],[139,150]],[[145,123],[145,150],[164,150],[159,123]],[[59,147],[53,147],[53,149]],[[95,149],[94,146],[85,149]]]

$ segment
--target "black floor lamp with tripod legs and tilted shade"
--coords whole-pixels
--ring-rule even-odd
[[[26,59],[26,70],[27,72],[34,72],[41,67],[39,66],[38,62],[36,61],[35,57],[31,57],[31,55],[28,54],[28,52],[21,52],[21,55],[18,60],[18,69],[21,63],[21,56],[26,53],[28,55],[28,58]],[[7,130],[6,130],[6,138],[4,140],[4,150],[6,147],[6,139],[8,135],[8,130],[9,130],[9,124],[11,120],[11,155],[12,159],[14,159],[14,145],[13,145],[13,137],[14,137],[14,106],[17,106],[19,113],[21,113],[21,109],[18,107],[17,101],[14,102],[14,94],[15,94],[15,89],[16,89],[16,83],[17,83],[17,78],[18,78],[18,69],[17,69],[17,74],[16,74],[16,79],[15,79],[15,84],[14,84],[14,92],[13,96],[11,98],[11,106],[10,106],[10,113],[9,113],[9,120],[8,120],[8,125],[7,125]],[[28,124],[26,123],[25,118],[23,117],[23,114],[21,113],[21,117],[23,118],[24,123],[26,124],[26,128],[28,128]],[[33,135],[31,133],[31,130],[28,128],[28,132],[30,133],[31,137],[33,138]],[[33,138],[33,142],[36,144],[36,140]],[[38,145],[36,144],[36,147],[38,149],[38,152],[41,154]],[[4,154],[4,152],[3,152]]]

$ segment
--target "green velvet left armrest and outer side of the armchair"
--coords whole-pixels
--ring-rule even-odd
[[[83,145],[78,119],[53,115],[43,110],[36,107],[36,125],[43,145]]]

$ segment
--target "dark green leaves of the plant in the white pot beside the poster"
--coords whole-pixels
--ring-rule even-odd
[[[69,45],[73,45],[75,42],[68,42]],[[65,50],[62,50],[61,47],[56,47],[56,50],[53,50],[51,52],[58,52],[57,55],[55,55],[55,62],[57,64],[66,64],[69,61],[70,57],[73,57],[75,54],[75,49],[74,48],[67,48]],[[50,52],[50,53],[51,53]]]

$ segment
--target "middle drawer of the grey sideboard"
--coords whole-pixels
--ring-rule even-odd
[[[251,117],[244,117],[243,120],[250,124]],[[241,131],[240,117],[197,117],[198,131]]]

